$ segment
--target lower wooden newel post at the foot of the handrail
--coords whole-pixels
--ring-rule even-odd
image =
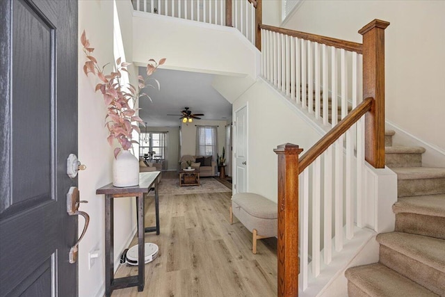
[[[279,145],[278,297],[298,296],[298,145]]]

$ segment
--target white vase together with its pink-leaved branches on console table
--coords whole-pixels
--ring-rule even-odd
[[[107,141],[111,146],[113,146],[115,141],[119,144],[114,149],[113,185],[136,186],[139,184],[138,159],[129,152],[129,149],[133,143],[138,143],[132,139],[133,131],[140,133],[137,122],[141,125],[144,125],[144,122],[136,115],[138,109],[134,109],[134,106],[136,101],[142,97],[147,97],[151,100],[147,94],[143,93],[143,88],[152,86],[147,84],[149,79],[151,79],[149,77],[156,71],[159,65],[165,63],[165,58],[159,60],[159,63],[156,63],[153,59],[148,61],[147,79],[139,75],[138,88],[136,88],[130,83],[124,84],[121,82],[122,73],[128,72],[127,67],[131,63],[121,61],[121,58],[118,58],[115,61],[115,65],[113,65],[114,69],[106,74],[105,67],[109,63],[102,67],[99,66],[97,59],[92,56],[94,48],[90,46],[85,31],[81,35],[81,44],[86,55],[83,72],[85,72],[87,77],[90,73],[95,75],[100,81],[97,83],[95,91],[100,91],[104,97],[106,106],[105,127],[109,131]],[[159,89],[159,82],[156,79],[152,80],[156,82],[156,87]]]

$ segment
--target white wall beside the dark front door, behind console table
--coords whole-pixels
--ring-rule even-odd
[[[119,0],[120,13],[127,17],[121,24],[131,22],[130,1]],[[101,65],[115,59],[113,53],[113,5],[114,1],[79,1],[79,40],[85,29],[94,56]],[[126,29],[125,29],[126,28]],[[122,35],[132,36],[132,26],[122,26]],[[131,42],[131,40],[127,40]],[[127,43],[124,42],[124,43]],[[96,195],[96,189],[112,181],[113,147],[108,145],[108,136],[104,128],[106,109],[102,96],[95,93],[97,80],[83,74],[83,54],[79,42],[79,160],[87,169],[79,172],[80,209],[90,214],[90,226],[79,245],[79,296],[102,296],[104,294],[104,195]],[[115,201],[115,257],[119,257],[122,248],[127,245],[136,225],[136,212],[133,198],[120,198]],[[79,219],[79,232],[83,228],[83,219]],[[79,234],[80,236],[80,234]],[[99,259],[88,269],[88,252],[99,249]]]

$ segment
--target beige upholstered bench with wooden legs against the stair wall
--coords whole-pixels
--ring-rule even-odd
[[[252,252],[257,253],[257,239],[277,236],[277,204],[254,193],[232,195],[230,223],[233,215],[252,232]]]

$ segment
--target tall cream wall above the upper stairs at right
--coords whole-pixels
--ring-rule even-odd
[[[386,117],[445,150],[445,1],[305,1],[286,28],[362,42],[372,19],[385,31]]]

